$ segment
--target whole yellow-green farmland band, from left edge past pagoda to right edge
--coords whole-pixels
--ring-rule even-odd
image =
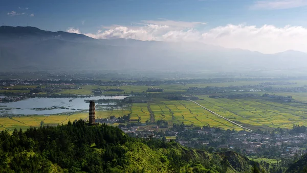
[[[257,99],[226,99],[209,98],[207,95],[199,95],[204,100],[196,101],[211,111],[228,118],[240,125],[256,130],[272,128],[292,128],[293,124],[307,124],[307,105],[298,103],[281,104],[276,102]],[[150,111],[152,114],[150,115]],[[131,113],[132,120],[141,118],[141,122],[157,121],[164,119],[172,123],[182,123],[194,126],[211,126],[223,129],[242,130],[233,123],[213,115],[209,111],[190,101],[153,100],[149,103],[136,103],[125,109],[97,111],[97,118],[109,116],[123,116]],[[68,120],[86,119],[87,113],[76,113],[71,115],[51,116],[20,116],[0,118],[0,130],[14,128],[26,129],[28,127],[39,127],[43,121],[45,125],[57,125],[67,123]]]

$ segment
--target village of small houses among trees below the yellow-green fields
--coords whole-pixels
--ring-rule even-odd
[[[103,123],[116,123],[115,119],[104,119]],[[120,125],[121,130],[131,136],[155,138],[164,141],[176,140],[182,145],[207,149],[211,152],[235,151],[247,156],[266,158],[293,158],[305,154],[307,133],[277,128],[273,131],[235,131],[213,127],[157,126],[144,123]],[[148,129],[149,127],[149,129]],[[305,129],[304,126],[302,126]]]

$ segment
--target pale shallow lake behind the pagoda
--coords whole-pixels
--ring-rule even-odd
[[[18,108],[11,110],[0,110],[0,115],[4,114],[24,114],[24,115],[49,115],[58,114],[64,112],[74,112],[77,109],[89,109],[89,103],[85,103],[84,100],[99,100],[99,99],[118,99],[122,100],[127,96],[92,96],[83,98],[28,98],[23,101],[0,103],[0,108]],[[72,100],[72,102],[69,102]],[[96,105],[108,105],[108,104],[96,104]],[[6,106],[6,107],[4,107]],[[52,108],[52,107],[65,107],[69,109],[52,109],[52,110],[33,110],[34,108]],[[76,109],[76,110],[71,110]],[[4,111],[4,112],[3,112]]]

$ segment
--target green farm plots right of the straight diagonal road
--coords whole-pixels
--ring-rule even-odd
[[[264,128],[292,128],[306,125],[307,109],[301,105],[281,104],[263,100],[230,100],[204,98],[202,106],[245,126]]]

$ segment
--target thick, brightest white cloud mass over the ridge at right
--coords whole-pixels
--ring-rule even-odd
[[[245,26],[229,24],[205,32],[201,36],[204,43],[228,48],[243,48],[262,53],[277,53],[287,50],[306,52],[307,28],[272,25]]]

